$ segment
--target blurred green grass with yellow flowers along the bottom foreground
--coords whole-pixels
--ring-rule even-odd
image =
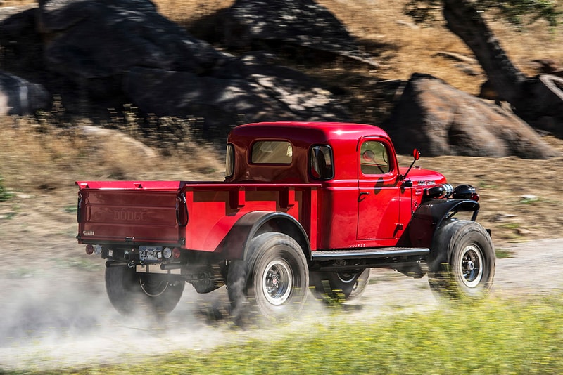
[[[281,336],[279,329],[265,331],[239,345],[67,373],[557,374],[563,371],[561,297],[445,304],[355,323],[336,315]]]

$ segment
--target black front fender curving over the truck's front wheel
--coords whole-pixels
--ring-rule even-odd
[[[409,223],[410,244],[430,247],[434,233],[450,212],[473,212],[472,221],[475,221],[479,203],[469,199],[434,199],[420,204]]]

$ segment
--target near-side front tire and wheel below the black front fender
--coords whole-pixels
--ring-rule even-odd
[[[488,296],[495,277],[495,249],[479,223],[460,220],[443,225],[434,237],[432,251],[448,254],[447,262],[429,272],[433,291],[462,300]]]

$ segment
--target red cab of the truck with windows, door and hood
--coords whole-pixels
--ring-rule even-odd
[[[377,126],[272,122],[237,126],[227,141],[228,183],[317,183],[317,249],[393,246],[438,172],[405,176]]]

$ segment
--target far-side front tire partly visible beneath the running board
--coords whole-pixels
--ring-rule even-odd
[[[355,272],[309,272],[309,286],[320,301],[353,301],[369,284],[370,270]]]

